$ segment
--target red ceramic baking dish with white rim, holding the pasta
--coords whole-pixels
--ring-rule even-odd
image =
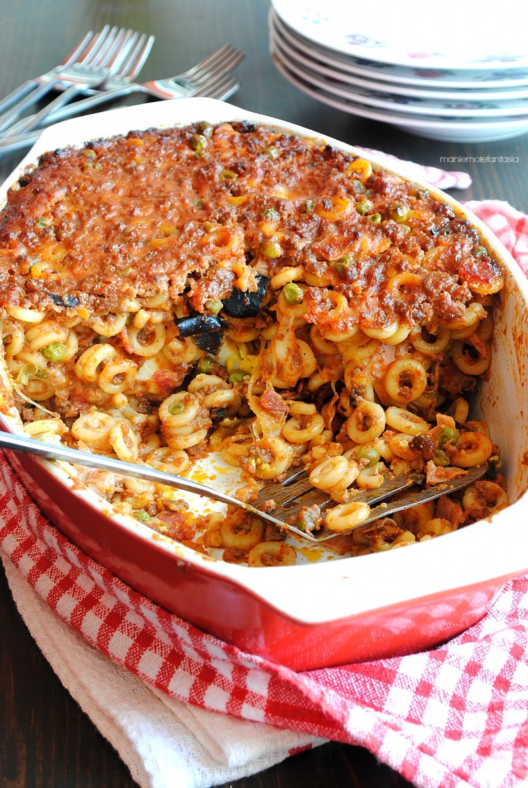
[[[195,121],[249,121],[322,139],[309,129],[211,99],[112,110],[46,129],[6,180],[0,204],[43,151]],[[324,141],[369,158],[335,139]],[[371,162],[374,169],[380,166],[375,158]],[[528,569],[526,279],[476,217],[441,191],[416,185],[467,218],[504,270],[492,366],[474,403],[474,418],[485,420],[501,447],[509,507],[406,549],[353,558],[330,557],[322,550],[318,560],[312,552],[310,560],[299,565],[255,568],[195,552],[120,515],[54,463],[9,455],[28,494],[58,529],[133,589],[240,649],[296,670],[431,648],[485,615],[504,582]],[[21,432],[17,414],[3,416],[1,423],[4,429]],[[210,504],[200,499],[198,505]]]

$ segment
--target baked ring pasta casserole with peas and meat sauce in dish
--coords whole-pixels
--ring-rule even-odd
[[[218,452],[236,495],[304,467],[332,500],[296,526],[344,555],[448,533],[508,504],[470,416],[491,360],[499,266],[452,208],[365,158],[241,122],[151,129],[46,153],[0,214],[0,318],[24,430],[191,473]],[[394,475],[485,479],[361,526]],[[78,469],[118,511],[196,550],[295,563],[243,511]],[[273,502],[270,502],[273,507]]]

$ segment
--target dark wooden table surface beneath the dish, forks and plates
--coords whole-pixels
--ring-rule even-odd
[[[104,24],[153,33],[154,48],[141,80],[187,69],[225,42],[246,58],[236,69],[235,106],[284,118],[348,143],[376,148],[426,165],[463,169],[473,178],[459,199],[497,198],[528,212],[528,136],[494,143],[444,143],[351,116],[316,102],[288,84],[268,49],[268,0],[17,0],[2,4],[0,95],[50,69],[89,29]],[[143,100],[143,99],[136,99]],[[130,99],[127,99],[130,103]],[[21,152],[0,158],[0,179]],[[463,158],[472,159],[461,161]],[[500,160],[502,158],[502,161]],[[514,161],[504,161],[513,158]],[[458,163],[460,162],[460,163]],[[133,788],[128,770],[61,686],[32,641],[0,572],[0,785],[2,788]],[[323,784],[403,788],[400,775],[365,749],[329,743],[294,756],[232,788]],[[177,788],[177,786],[175,786]]]

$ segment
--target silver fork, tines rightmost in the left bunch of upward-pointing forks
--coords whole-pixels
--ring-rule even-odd
[[[133,80],[142,69],[153,44],[154,35],[147,37],[144,33],[143,35],[139,35],[138,32],[132,30],[124,31],[121,29],[111,46],[106,46],[106,53],[104,56],[101,55],[102,59],[99,60],[99,64],[91,67],[98,73],[95,79],[100,82],[100,89],[105,90],[107,85],[113,87],[113,85],[119,84],[125,87],[130,84],[131,80]],[[102,69],[106,72],[106,76],[103,75]],[[84,74],[80,74],[80,81],[78,83],[70,85],[70,87],[58,95],[54,101],[43,107],[39,113],[30,115],[16,125],[10,126],[2,137],[10,138],[12,136],[17,136],[26,131],[31,131],[33,128],[37,128],[43,123],[54,122],[52,120],[47,121],[47,118],[53,117],[54,113],[58,113],[64,105],[66,105],[66,107],[73,106],[69,105],[67,102],[69,102],[69,99],[72,98],[73,95],[83,90],[84,84],[82,80],[84,80]]]

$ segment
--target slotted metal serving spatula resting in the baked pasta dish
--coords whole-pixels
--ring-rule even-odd
[[[324,510],[325,506],[333,504],[334,502],[329,499],[328,495],[310,488],[307,490],[307,482],[302,477],[304,471],[298,471],[292,474],[291,477],[285,479],[283,482],[277,482],[266,485],[258,496],[255,506],[246,504],[225,492],[213,489],[203,484],[199,484],[191,479],[185,479],[180,476],[173,476],[167,474],[162,470],[155,470],[147,465],[137,465],[135,463],[126,463],[121,459],[113,459],[99,454],[91,454],[90,452],[81,452],[76,448],[69,448],[61,444],[46,444],[42,440],[35,440],[34,438],[13,435],[12,433],[0,433],[0,448],[6,448],[14,452],[24,452],[24,454],[31,454],[44,459],[58,459],[67,463],[75,465],[87,466],[91,468],[99,468],[99,470],[109,470],[114,474],[121,474],[123,476],[133,476],[135,478],[143,479],[145,481],[154,481],[157,484],[175,487],[176,489],[184,490],[185,492],[192,492],[195,495],[217,500],[222,504],[228,504],[237,508],[244,509],[248,514],[259,519],[271,522],[281,529],[296,533],[297,536],[303,537],[312,542],[328,541],[337,536],[345,536],[351,533],[356,528],[366,526],[369,522],[387,517],[394,514],[396,511],[407,509],[409,507],[424,504],[426,501],[434,500],[442,495],[451,494],[456,490],[463,489],[474,481],[484,476],[488,470],[487,463],[483,465],[474,466],[467,471],[467,474],[458,478],[452,479],[448,483],[442,485],[435,485],[434,487],[422,489],[421,492],[397,498],[390,504],[380,503],[388,496],[394,496],[404,489],[408,489],[416,485],[417,479],[415,474],[411,476],[400,476],[385,481],[381,488],[376,490],[367,490],[354,496],[351,500],[359,501],[368,504],[372,507],[373,504],[378,504],[376,507],[371,508],[368,518],[363,519],[357,526],[349,528],[348,530],[330,531],[328,528],[323,528],[316,533],[301,530],[293,526],[288,520],[295,519],[296,514],[299,513],[301,508],[310,505],[314,500],[318,500],[318,506]],[[310,496],[310,504],[306,503],[306,494]],[[281,497],[282,495],[282,497]],[[262,506],[265,500],[275,500],[275,508],[270,511],[262,511],[258,506]],[[277,503],[278,501],[278,503]],[[274,512],[280,511],[284,519],[274,515]]]

